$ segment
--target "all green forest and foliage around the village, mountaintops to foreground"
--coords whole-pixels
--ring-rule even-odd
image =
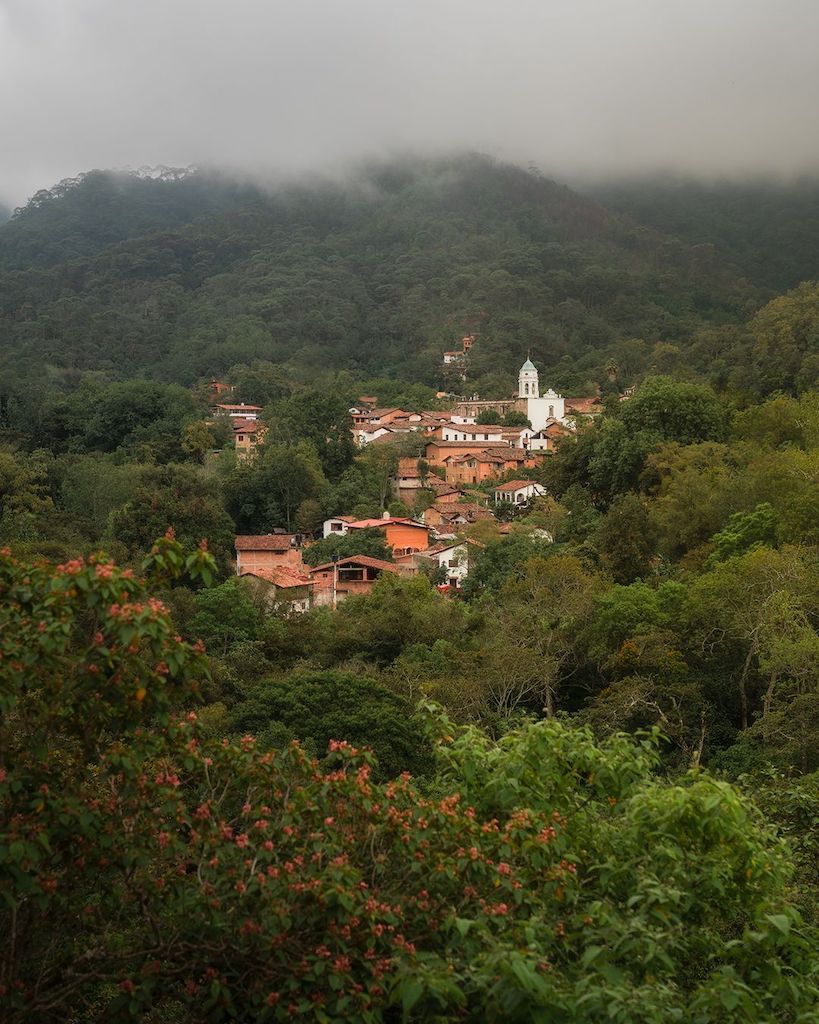
[[[0,226],[0,1020],[817,1020],[819,188],[594,193],[94,171]],[[359,395],[527,351],[603,412],[468,489],[457,595],[235,575],[430,506]]]

